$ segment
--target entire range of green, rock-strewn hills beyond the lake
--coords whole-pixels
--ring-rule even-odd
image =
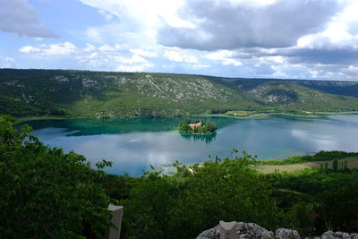
[[[357,82],[349,83],[358,87]],[[358,110],[354,93],[340,93],[348,82],[320,84],[170,73],[0,69],[0,113],[125,117]]]

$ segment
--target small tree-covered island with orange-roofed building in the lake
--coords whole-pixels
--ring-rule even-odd
[[[186,119],[180,122],[179,132],[181,134],[212,134],[216,133],[217,124],[208,120]]]

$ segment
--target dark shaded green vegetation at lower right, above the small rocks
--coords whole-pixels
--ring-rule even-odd
[[[295,219],[304,235],[324,231],[358,232],[358,171],[304,170],[263,175],[274,188],[279,208]]]

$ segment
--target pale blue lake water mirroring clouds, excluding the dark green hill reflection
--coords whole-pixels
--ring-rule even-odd
[[[233,148],[257,154],[260,159],[286,158],[319,150],[356,151],[358,124],[341,117],[344,120],[339,117],[303,121],[282,117],[241,120],[220,128],[210,141],[188,139],[176,130],[68,136],[65,124],[61,128],[38,129],[34,135],[50,146],[65,151],[73,149],[93,163],[101,159],[113,161],[114,166],[107,169],[109,173],[125,171],[141,175],[149,165],[170,164],[176,159],[192,164],[208,160],[209,155],[226,158]],[[354,119],[358,120],[358,115]]]

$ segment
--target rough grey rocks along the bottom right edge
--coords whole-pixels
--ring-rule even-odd
[[[231,223],[233,224],[233,223]],[[197,239],[220,239],[220,238],[237,238],[237,239],[301,239],[302,237],[297,231],[286,228],[279,228],[275,233],[254,224],[234,222],[235,235],[220,235],[223,232],[222,224],[217,225],[209,230],[202,232]],[[221,227],[221,228],[220,228]],[[358,239],[358,234],[347,234],[342,232],[328,231],[321,236],[313,237],[313,239]]]

